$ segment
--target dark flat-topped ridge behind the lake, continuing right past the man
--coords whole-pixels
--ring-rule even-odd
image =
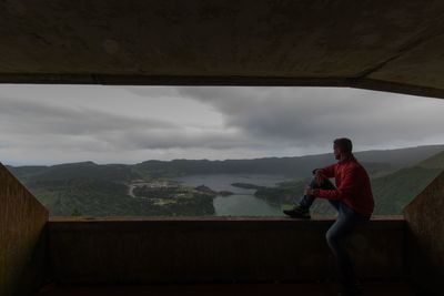
[[[396,171],[444,151],[444,145],[427,145],[396,150],[372,150],[356,152],[354,155],[371,173],[379,171]],[[215,174],[215,173],[249,173],[249,174],[284,174],[306,176],[314,167],[334,163],[332,153],[293,156],[293,157],[263,157],[253,160],[173,160],[147,161],[135,166],[141,171],[149,171],[154,175],[164,173],[175,174]]]

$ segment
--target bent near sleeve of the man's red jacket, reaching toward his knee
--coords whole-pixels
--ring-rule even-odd
[[[359,187],[359,170],[350,167],[344,172],[341,186],[335,190],[314,190],[313,195],[326,200],[343,200],[346,196],[352,196]]]

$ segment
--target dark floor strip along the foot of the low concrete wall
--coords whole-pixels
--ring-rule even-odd
[[[363,296],[415,295],[407,283],[365,282],[362,283]],[[134,285],[134,286],[56,286],[43,287],[36,296],[244,296],[244,295],[337,295],[340,287],[335,283],[279,283],[279,284],[183,284],[183,285]]]

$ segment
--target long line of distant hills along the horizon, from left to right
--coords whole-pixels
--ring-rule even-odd
[[[417,164],[440,152],[444,145],[427,145],[396,150],[356,152],[354,155],[371,174],[393,172]],[[436,156],[435,156],[436,157]],[[431,160],[428,165],[432,165]],[[444,162],[444,156],[443,160]],[[198,174],[279,174],[306,177],[314,167],[321,167],[335,160],[332,153],[293,156],[263,157],[252,160],[173,160],[145,161],[138,164],[95,164],[91,161],[65,163],[52,166],[8,166],[22,181],[51,181],[75,177],[125,182],[139,177],[169,177]],[[426,165],[426,164],[424,164]]]

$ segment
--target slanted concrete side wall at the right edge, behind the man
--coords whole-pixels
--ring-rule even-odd
[[[404,208],[404,216],[412,279],[443,295],[444,172]]]

